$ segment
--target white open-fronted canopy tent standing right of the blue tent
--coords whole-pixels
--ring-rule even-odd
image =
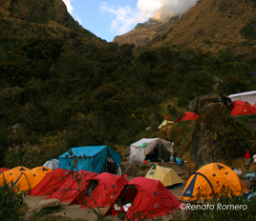
[[[153,151],[155,148],[159,149],[159,161],[165,159],[166,153],[173,154],[173,142],[158,138],[142,138],[130,147],[130,161],[129,163],[143,163],[145,156]]]

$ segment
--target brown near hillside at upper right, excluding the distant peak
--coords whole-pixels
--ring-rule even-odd
[[[255,17],[255,1],[201,0],[148,46],[251,53],[256,43]]]

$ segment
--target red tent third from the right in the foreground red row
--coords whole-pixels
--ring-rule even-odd
[[[98,173],[93,171],[77,171],[68,177],[67,181],[58,191],[54,191],[53,194],[46,197],[46,199],[57,198],[60,202],[72,202],[81,192],[88,189],[88,181],[97,174]]]

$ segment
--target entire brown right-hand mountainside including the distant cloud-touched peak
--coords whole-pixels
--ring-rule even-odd
[[[238,54],[251,53],[256,50],[255,6],[255,0],[200,0],[181,19],[154,16],[135,30],[117,36],[114,42],[138,47],[189,48],[204,53],[227,49]]]

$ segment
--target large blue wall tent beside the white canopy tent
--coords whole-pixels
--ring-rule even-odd
[[[115,165],[117,171],[121,166],[120,154],[108,146],[72,148],[60,155],[58,159],[59,168],[73,171],[84,170],[101,173],[108,171],[108,164]],[[75,162],[77,162],[77,168]]]

